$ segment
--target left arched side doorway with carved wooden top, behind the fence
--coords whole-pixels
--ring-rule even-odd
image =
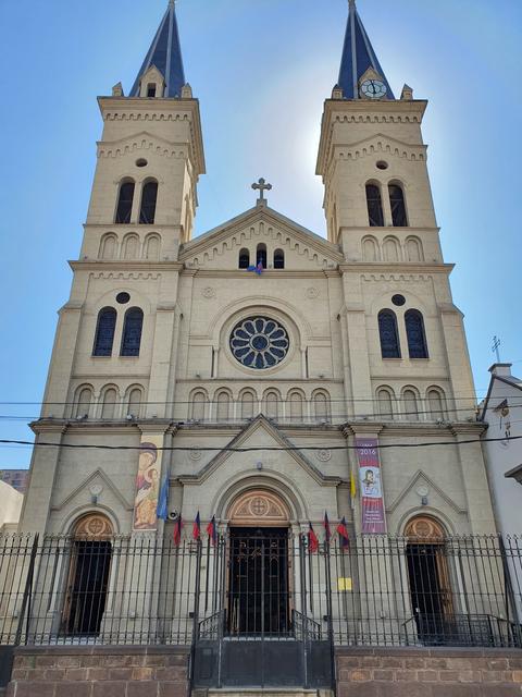
[[[113,528],[99,513],[75,524],[71,548],[63,629],[70,635],[92,636],[100,632],[107,604]]]

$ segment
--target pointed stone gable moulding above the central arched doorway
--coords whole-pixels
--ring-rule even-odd
[[[219,452],[212,460],[204,465],[197,474],[195,475],[182,475],[178,477],[179,481],[187,484],[200,484],[208,479],[215,469],[221,467],[227,460],[235,453],[234,450],[226,449],[236,449],[244,447],[244,443],[256,433],[259,429],[263,429],[265,433],[269,433],[274,440],[274,447],[278,448],[297,448],[286,436],[282,433],[282,431],[270,421],[265,416],[260,414],[257,416],[250,424],[245,426],[243,430],[231,440],[229,443],[225,445],[225,448]],[[331,477],[323,475],[323,473],[315,467],[311,463],[311,461],[300,451],[300,450],[289,450],[287,451],[288,455],[290,455],[297,465],[299,465],[307,474],[315,481],[322,486],[338,486],[341,482],[339,477]]]

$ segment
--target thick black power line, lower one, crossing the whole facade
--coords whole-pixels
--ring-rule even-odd
[[[506,442],[513,440],[521,440],[522,436],[510,436],[508,438],[472,438],[467,440],[447,440],[447,441],[435,441],[435,442],[423,442],[423,443],[380,443],[377,445],[372,445],[376,450],[389,450],[391,448],[433,448],[434,445],[469,445],[472,443],[496,443],[496,442]],[[8,440],[0,439],[0,443],[3,444],[17,444],[17,445],[29,445],[32,448],[66,448],[71,450],[129,450],[129,451],[140,451],[140,445],[107,445],[101,443],[46,443],[46,442],[35,442],[27,440]],[[320,451],[320,450],[358,450],[359,445],[271,445],[271,447],[249,447],[249,448],[232,448],[232,447],[198,447],[196,450],[201,452],[232,452],[232,453],[251,453],[251,452],[294,452],[294,451]],[[195,450],[194,445],[163,445],[159,447],[157,450],[159,451],[167,451],[167,452],[191,452]]]

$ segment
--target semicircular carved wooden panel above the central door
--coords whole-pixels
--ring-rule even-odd
[[[232,527],[288,527],[290,512],[274,491],[251,489],[238,496],[228,508]]]

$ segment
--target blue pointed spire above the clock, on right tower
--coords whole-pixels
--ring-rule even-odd
[[[359,99],[359,81],[369,68],[373,68],[386,85],[386,98],[395,99],[357,11],[356,0],[348,0],[348,2],[350,12],[338,81],[338,86],[343,89],[343,96],[345,99]]]

